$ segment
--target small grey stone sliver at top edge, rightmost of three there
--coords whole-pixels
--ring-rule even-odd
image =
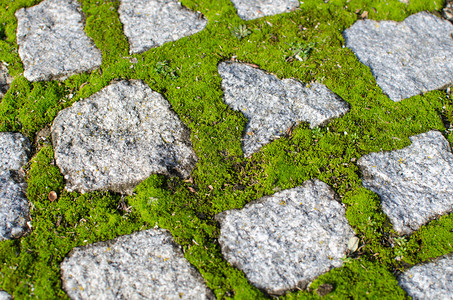
[[[299,7],[299,0],[231,0],[243,20],[252,20],[289,12]]]

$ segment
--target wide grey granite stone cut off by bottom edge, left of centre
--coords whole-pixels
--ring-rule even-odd
[[[150,229],[73,249],[61,263],[71,299],[213,299],[171,234]]]

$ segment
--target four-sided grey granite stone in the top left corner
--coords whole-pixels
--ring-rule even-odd
[[[16,12],[17,44],[30,81],[66,79],[101,65],[76,0],[44,0]]]

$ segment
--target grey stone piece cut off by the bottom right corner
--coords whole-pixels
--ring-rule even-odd
[[[398,277],[398,282],[412,299],[451,299],[453,257],[447,255],[431,263],[412,267]]]

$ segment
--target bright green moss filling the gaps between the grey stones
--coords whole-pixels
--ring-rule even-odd
[[[320,276],[306,290],[282,298],[318,299],[317,289],[333,286],[326,298],[407,298],[396,275],[411,265],[453,251],[453,214],[398,236],[382,213],[379,197],[363,188],[357,159],[400,149],[408,137],[436,129],[453,142],[453,102],[432,91],[395,103],[377,86],[371,71],[344,46],[342,32],[365,11],[368,18],[401,21],[428,10],[438,14],[443,0],[304,0],[291,13],[243,21],[228,0],[182,0],[203,13],[198,34],[129,55],[118,0],[80,0],[86,32],[102,51],[100,69],[63,82],[30,83],[16,44],[17,9],[36,0],[0,0],[0,60],[15,78],[0,102],[0,131],[21,132],[35,141],[26,166],[32,230],[0,242],[0,289],[15,299],[67,298],[59,264],[76,246],[154,227],[168,229],[185,257],[218,298],[266,298],[223,258],[215,214],[263,195],[319,178],[332,186],[360,238],[344,266]],[[362,15],[363,16],[363,15]],[[295,55],[302,61],[294,59]],[[217,64],[238,60],[258,65],[279,78],[321,82],[350,104],[350,112],[328,125],[298,124],[280,139],[244,158],[241,113],[222,100]],[[199,157],[189,180],[152,175],[132,196],[110,192],[68,193],[52,145],[36,136],[57,113],[108,85],[113,79],[142,79],[162,93],[190,128]],[[59,198],[50,202],[47,195]]]

